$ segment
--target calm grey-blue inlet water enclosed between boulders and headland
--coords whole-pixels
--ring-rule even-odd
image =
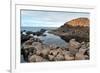
[[[48,31],[44,33],[46,36],[40,36],[39,38],[43,40],[44,44],[47,45],[57,45],[59,47],[66,47],[67,43],[62,40],[59,36],[50,34]]]

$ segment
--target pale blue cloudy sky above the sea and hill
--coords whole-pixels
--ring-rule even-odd
[[[21,10],[21,26],[60,27],[65,22],[79,17],[89,18],[89,13]]]

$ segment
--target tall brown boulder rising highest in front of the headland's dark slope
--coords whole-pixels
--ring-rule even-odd
[[[77,41],[75,41],[75,39],[71,39],[69,42],[69,51],[75,55],[78,52],[78,49],[80,48],[81,44]]]

